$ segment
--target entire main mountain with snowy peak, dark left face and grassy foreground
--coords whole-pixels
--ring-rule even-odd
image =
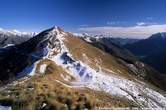
[[[166,107],[165,78],[90,42],[53,27],[4,48],[2,85],[17,80],[0,88],[0,104],[14,110]]]

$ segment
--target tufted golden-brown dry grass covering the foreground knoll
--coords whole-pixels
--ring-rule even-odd
[[[39,74],[39,66],[47,64],[52,71],[46,69],[45,75]],[[55,80],[66,73],[54,62],[44,59],[37,64],[37,74],[29,80],[10,86],[0,92],[0,103],[11,105],[13,110],[90,110],[95,107],[128,107],[135,106],[128,100],[111,97],[104,92],[92,91],[87,88],[68,88]],[[72,79],[74,80],[74,79]],[[46,104],[42,108],[43,103]]]

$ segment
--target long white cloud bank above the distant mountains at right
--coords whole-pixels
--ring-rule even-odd
[[[157,32],[166,32],[166,24],[136,25],[129,27],[99,26],[79,28],[80,32],[103,34],[122,38],[147,38]]]

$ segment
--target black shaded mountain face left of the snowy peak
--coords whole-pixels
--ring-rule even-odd
[[[32,65],[35,61],[44,56],[45,51],[42,50],[44,44],[41,42],[47,42],[47,36],[45,36],[48,34],[47,31],[49,30],[44,31],[21,44],[11,45],[0,49],[0,80],[2,82],[15,79],[18,73],[24,68]]]

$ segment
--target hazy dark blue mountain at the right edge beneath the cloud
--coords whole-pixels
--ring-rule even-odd
[[[133,44],[127,44],[125,47],[142,61],[151,65],[161,73],[166,73],[164,65],[166,64],[166,35],[157,33],[145,40],[140,40]]]

